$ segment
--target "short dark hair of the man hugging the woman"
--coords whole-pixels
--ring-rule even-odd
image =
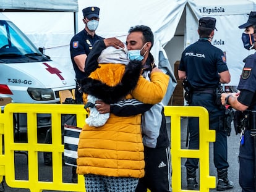
[[[151,28],[145,25],[136,25],[134,27],[131,27],[128,33],[137,32],[137,31],[142,32],[143,43],[150,42],[152,44],[151,46],[152,48],[154,44],[154,35],[153,35],[153,32],[151,31]]]

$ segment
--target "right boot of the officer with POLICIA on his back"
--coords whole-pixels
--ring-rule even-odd
[[[233,182],[228,179],[228,169],[217,169],[218,185],[217,191],[224,191],[233,188]]]

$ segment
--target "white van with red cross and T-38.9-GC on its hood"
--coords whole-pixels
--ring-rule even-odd
[[[56,103],[60,90],[75,88],[74,78],[74,73],[42,54],[0,13],[0,98],[11,97],[12,102]],[[42,126],[50,117],[43,119]]]

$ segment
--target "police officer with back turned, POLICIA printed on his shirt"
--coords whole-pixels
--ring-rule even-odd
[[[233,188],[233,183],[228,179],[228,133],[224,128],[224,107],[216,102],[216,90],[220,87],[220,83],[229,83],[230,74],[223,51],[211,44],[216,29],[215,24],[216,19],[212,17],[202,17],[199,20],[197,31],[200,38],[182,52],[178,75],[190,85],[189,106],[202,106],[209,112],[210,129],[215,130],[216,133],[213,160],[218,172],[217,190],[223,191]],[[190,117],[189,149],[199,148],[198,127],[198,118]],[[188,158],[185,166],[187,189],[195,190],[198,187],[196,178],[198,159]]]

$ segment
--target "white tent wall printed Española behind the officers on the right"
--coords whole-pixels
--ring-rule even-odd
[[[242,60],[255,51],[247,51],[242,44],[243,29],[238,26],[247,22],[248,14],[255,8],[256,1],[232,0],[232,1],[189,1],[186,6],[186,38],[185,46],[198,40],[195,28],[198,19],[215,17],[216,28],[212,44],[226,52],[226,59],[231,73],[230,85],[238,85],[244,63]]]

